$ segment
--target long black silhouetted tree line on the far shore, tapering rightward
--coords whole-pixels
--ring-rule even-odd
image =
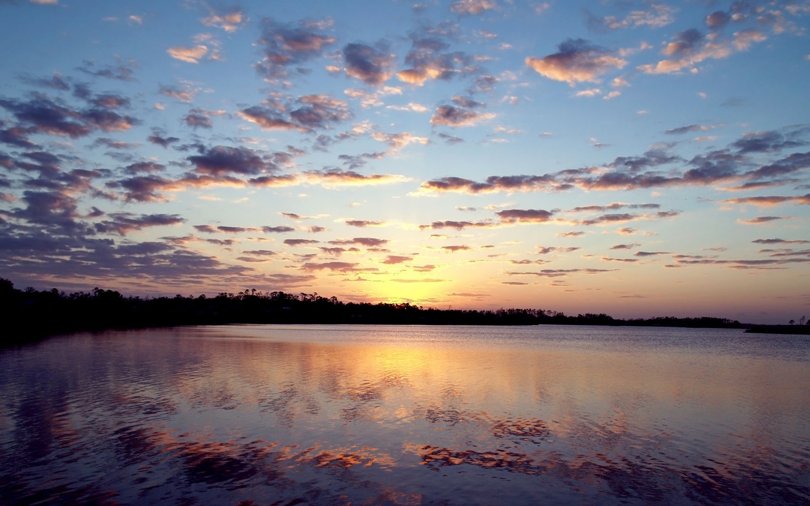
[[[27,342],[77,330],[128,329],[173,325],[232,323],[321,323],[388,325],[656,325],[740,328],[726,318],[655,317],[617,320],[607,314],[568,316],[543,309],[463,310],[403,304],[343,303],[317,293],[283,291],[222,292],[217,296],[134,297],[95,288],[67,294],[53,288],[18,290],[0,279],[0,304],[15,322],[6,326],[2,344]]]

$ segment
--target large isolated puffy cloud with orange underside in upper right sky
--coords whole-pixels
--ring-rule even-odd
[[[567,39],[557,46],[558,53],[543,58],[527,57],[526,64],[538,74],[555,81],[599,83],[599,75],[621,69],[627,62],[612,51],[583,39]]]

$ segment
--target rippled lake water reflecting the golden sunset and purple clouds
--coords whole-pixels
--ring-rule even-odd
[[[2,504],[810,504],[810,339],[239,325],[0,351]]]

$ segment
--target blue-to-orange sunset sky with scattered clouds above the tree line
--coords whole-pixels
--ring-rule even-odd
[[[0,0],[0,277],[799,321],[808,23],[808,0]]]

